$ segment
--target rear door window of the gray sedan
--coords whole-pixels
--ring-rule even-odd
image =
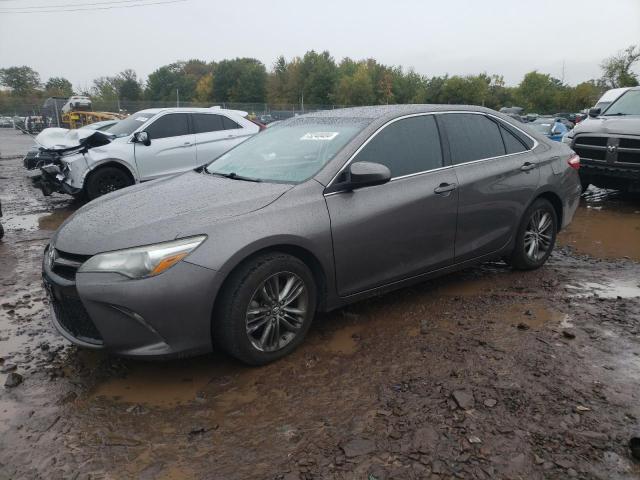
[[[454,165],[505,155],[500,128],[486,116],[447,113],[438,119],[447,132]]]

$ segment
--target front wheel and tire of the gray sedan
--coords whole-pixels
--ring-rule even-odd
[[[294,297],[299,286],[303,289]],[[275,291],[284,302],[274,301]],[[287,298],[293,300],[286,303]],[[214,346],[249,365],[278,360],[302,343],[316,305],[316,282],[304,262],[278,252],[250,259],[222,289],[212,322]]]

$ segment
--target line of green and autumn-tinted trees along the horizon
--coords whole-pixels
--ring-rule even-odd
[[[531,71],[516,86],[501,75],[425,76],[375,59],[337,62],[329,52],[280,56],[270,70],[255,58],[219,62],[192,59],[161,66],[142,81],[136,72],[96,78],[75,89],[64,77],[42,82],[28,66],[0,69],[0,96],[37,100],[48,96],[89,95],[104,102],[269,103],[292,105],[380,105],[392,103],[474,104],[490,108],[521,106],[529,112],[578,111],[592,106],[608,88],[638,85],[634,68],[640,47],[630,46],[602,61],[600,78],[571,86]]]

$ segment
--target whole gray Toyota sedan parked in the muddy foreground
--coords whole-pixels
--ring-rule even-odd
[[[491,259],[540,267],[578,205],[579,166],[480,107],[296,117],[78,210],[45,250],[52,320],[119,355],[264,364],[317,311]]]

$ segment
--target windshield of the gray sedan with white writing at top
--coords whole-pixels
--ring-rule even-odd
[[[211,163],[212,174],[301,183],[366,126],[355,119],[306,118],[265,130]]]

